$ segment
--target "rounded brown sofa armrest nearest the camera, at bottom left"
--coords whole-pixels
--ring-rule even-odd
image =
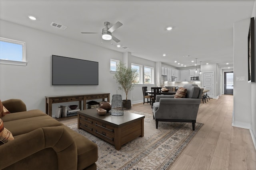
[[[17,139],[14,137],[13,141],[0,145],[0,153],[4,155],[0,159],[0,169],[46,148],[52,148],[56,152],[58,169],[77,169],[76,144],[64,127],[38,128],[17,137]],[[40,167],[38,168],[40,169]]]

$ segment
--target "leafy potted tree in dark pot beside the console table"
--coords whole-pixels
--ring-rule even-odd
[[[134,83],[136,83],[137,69],[128,68],[123,63],[119,63],[116,66],[116,74],[114,78],[116,82],[120,85],[119,90],[123,90],[126,94],[126,100],[123,100],[124,109],[131,109],[131,100],[127,100],[128,92],[134,88]]]

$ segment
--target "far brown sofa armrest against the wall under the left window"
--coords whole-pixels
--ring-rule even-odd
[[[24,102],[22,102],[20,99],[5,100],[2,102],[2,104],[8,111],[10,111],[10,113],[27,111],[26,104],[24,104]]]

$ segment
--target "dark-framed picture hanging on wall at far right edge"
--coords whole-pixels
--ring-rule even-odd
[[[256,78],[256,62],[255,62],[255,29],[254,17],[251,18],[249,33],[248,33],[248,82],[255,82]]]

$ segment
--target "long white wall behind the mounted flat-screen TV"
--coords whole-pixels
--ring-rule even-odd
[[[0,37],[25,41],[28,61],[27,66],[0,64],[2,101],[18,98],[26,103],[28,110],[45,111],[45,96],[106,92],[112,97],[116,94],[118,85],[110,73],[110,59],[122,61],[122,53],[3,20],[0,20]],[[99,62],[99,85],[52,86],[52,55]],[[54,108],[52,111],[54,115]]]

